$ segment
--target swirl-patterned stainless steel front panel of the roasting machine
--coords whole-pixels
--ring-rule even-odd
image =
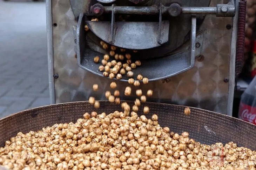
[[[84,71],[77,64],[73,46],[73,25],[77,23],[69,1],[52,2],[53,23],[58,24],[53,28],[54,73],[59,74],[55,80],[56,103],[85,101],[89,96],[95,96],[97,100],[105,99],[104,91],[110,90],[112,80]],[[227,1],[211,1],[210,7],[221,3]],[[227,114],[228,98],[230,102],[234,91],[229,89],[231,81],[223,81],[225,77],[234,76],[229,72],[234,66],[234,60],[229,60],[232,30],[226,28],[227,24],[232,24],[231,18],[206,16],[200,28],[204,34],[201,44],[203,49],[195,66],[182,74],[142,86],[143,92],[147,89],[154,91],[149,101],[195,106]],[[92,90],[94,83],[99,84],[96,94]],[[117,82],[120,91],[124,91],[126,86],[126,82]],[[135,93],[129,98],[121,98],[133,97]]]

